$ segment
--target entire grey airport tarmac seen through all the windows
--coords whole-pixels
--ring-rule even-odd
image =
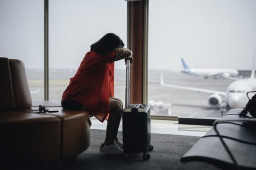
[[[50,72],[51,73],[51,72]],[[55,71],[50,74],[49,100],[61,100],[61,95],[69,83],[69,78],[75,71]],[[210,94],[176,88],[163,87],[160,85],[160,74],[164,76],[164,83],[205,88],[209,90],[226,91],[226,87],[234,80],[230,79],[204,79],[196,76],[185,75],[183,73],[170,70],[150,70],[148,71],[148,100],[154,100],[160,104],[158,107],[151,106],[152,115],[160,116],[186,116],[186,117],[221,117],[228,112],[225,98],[218,108],[208,105]],[[249,71],[245,72],[246,74]],[[39,73],[36,73],[39,74]],[[28,74],[31,91],[36,91],[43,83],[43,79],[34,73]],[[35,83],[35,78],[37,78]],[[33,85],[34,81],[34,85]],[[32,84],[31,84],[32,82]],[[115,70],[115,97],[125,103],[125,70]],[[43,88],[36,94],[32,94],[32,99],[43,100]]]

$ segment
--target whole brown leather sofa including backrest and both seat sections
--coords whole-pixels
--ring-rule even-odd
[[[90,144],[90,116],[85,111],[32,113],[25,67],[0,57],[0,163],[29,167],[54,163],[85,151]],[[0,165],[0,168],[1,168]]]

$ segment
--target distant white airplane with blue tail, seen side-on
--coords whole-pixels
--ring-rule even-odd
[[[188,75],[203,76],[204,78],[222,77],[230,79],[236,79],[234,77],[238,75],[238,71],[236,69],[190,69],[183,58],[181,58],[181,62],[183,65],[183,70],[181,70],[181,73]]]

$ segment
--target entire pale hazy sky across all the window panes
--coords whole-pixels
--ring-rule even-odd
[[[254,0],[150,0],[148,68],[250,70],[256,48]],[[105,33],[127,41],[124,0],[49,0],[49,67],[76,69]],[[0,56],[43,69],[43,0],[0,0]],[[135,56],[136,57],[136,56]],[[123,61],[117,69],[125,69]]]

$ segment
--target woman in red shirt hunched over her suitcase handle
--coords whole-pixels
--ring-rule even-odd
[[[106,139],[100,151],[122,155],[122,143],[117,139],[122,117],[122,101],[114,98],[114,61],[131,57],[129,49],[114,33],[107,33],[90,46],[75,76],[64,91],[63,109],[85,110],[101,122],[108,120]],[[132,58],[130,62],[132,62]]]

